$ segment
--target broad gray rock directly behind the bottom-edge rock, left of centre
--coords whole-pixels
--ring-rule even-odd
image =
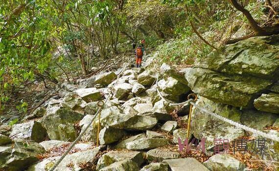
[[[111,164],[123,160],[131,160],[135,162],[138,167],[144,162],[143,154],[138,151],[110,151],[108,153],[103,154],[98,160],[96,171],[101,170]]]

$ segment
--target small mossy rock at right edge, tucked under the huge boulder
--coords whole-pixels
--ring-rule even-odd
[[[279,94],[262,94],[254,100],[254,106],[260,111],[279,113]]]

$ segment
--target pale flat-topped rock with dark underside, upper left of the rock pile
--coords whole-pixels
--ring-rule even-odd
[[[84,100],[85,102],[95,102],[102,99],[100,91],[97,88],[80,88],[75,90],[75,92]]]

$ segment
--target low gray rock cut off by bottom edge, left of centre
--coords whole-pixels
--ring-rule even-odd
[[[126,159],[115,162],[99,171],[139,171],[138,165],[132,160]]]

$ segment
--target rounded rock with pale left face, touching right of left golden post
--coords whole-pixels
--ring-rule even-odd
[[[120,140],[126,132],[123,129],[105,127],[100,130],[99,140],[101,145],[108,145]]]

